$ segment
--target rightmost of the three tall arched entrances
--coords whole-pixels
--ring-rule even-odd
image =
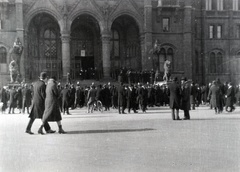
[[[111,69],[141,69],[139,26],[129,15],[116,18],[111,27]]]

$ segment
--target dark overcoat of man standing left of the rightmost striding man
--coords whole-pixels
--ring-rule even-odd
[[[220,107],[220,101],[221,101],[221,90],[219,86],[217,85],[212,85],[209,89],[208,93],[208,99],[210,99],[210,104],[212,105],[213,108],[219,108]]]

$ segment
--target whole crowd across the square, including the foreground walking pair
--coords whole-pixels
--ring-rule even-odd
[[[98,85],[92,83],[89,86],[77,82],[76,85],[62,85],[54,77],[47,80],[46,73],[42,72],[39,80],[31,85],[1,88],[0,99],[3,113],[29,114],[26,133],[33,134],[32,124],[36,118],[41,118],[39,134],[44,134],[43,128],[46,133],[55,132],[51,130],[49,121],[56,121],[59,133],[62,134],[65,131],[61,125],[61,112],[63,115],[71,115],[69,109],[87,107],[87,113],[92,113],[96,101],[101,101],[105,111],[117,109],[119,114],[145,113],[149,107],[170,106],[173,120],[180,120],[180,109],[184,111],[183,119],[189,120],[189,110],[194,110],[200,104],[209,104],[216,114],[223,112],[224,107],[227,112],[234,111],[234,104],[240,102],[240,89],[231,82],[223,84],[219,79],[200,86],[185,77],[180,82],[175,77],[162,85],[149,82],[120,82],[118,85],[110,82]]]

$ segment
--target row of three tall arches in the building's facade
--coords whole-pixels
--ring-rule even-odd
[[[66,40],[58,21],[47,13],[37,14],[27,31],[26,78],[34,80],[41,71],[62,79],[66,75],[66,60],[73,79],[79,79],[81,70],[95,69],[103,77],[110,77],[121,67],[141,70],[141,45],[138,24],[129,15],[116,18],[109,38],[101,34],[99,22],[91,15],[76,17]],[[69,44],[66,59],[64,45]],[[104,54],[106,45],[109,53]],[[137,63],[136,63],[137,62]]]

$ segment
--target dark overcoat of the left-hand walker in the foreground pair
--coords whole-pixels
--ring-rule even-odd
[[[33,85],[32,108],[29,118],[42,118],[45,109],[46,84],[38,80]]]

